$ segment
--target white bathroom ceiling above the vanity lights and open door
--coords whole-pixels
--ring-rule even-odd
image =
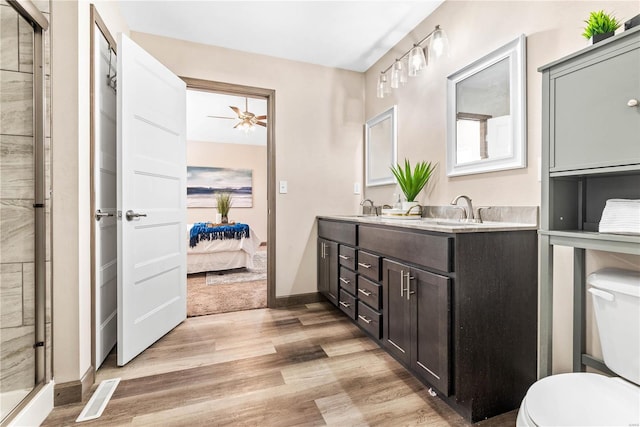
[[[364,72],[443,1],[119,0],[119,4],[132,31]]]

